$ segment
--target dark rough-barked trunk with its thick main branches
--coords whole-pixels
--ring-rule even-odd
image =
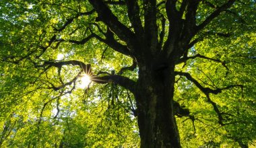
[[[117,76],[105,76],[98,82],[102,83],[102,80],[104,80],[103,83],[114,82],[133,92],[137,103],[141,147],[181,147],[174,117],[174,108],[177,108],[173,101],[175,75],[183,75],[195,83],[208,96],[209,102],[215,107],[214,110],[219,112],[218,108],[216,109],[216,104],[210,100],[209,94],[218,94],[223,89],[205,88],[187,73],[174,72],[174,67],[175,64],[189,59],[186,54],[188,48],[198,42],[197,39],[191,42],[193,36],[203,30],[220,13],[231,7],[234,1],[228,0],[198,25],[196,24],[196,12],[199,1],[183,0],[180,9],[177,9],[177,0],[163,1],[168,25],[166,25],[166,18],[162,17],[162,32],[158,36],[157,16],[161,14],[157,12],[156,0],[143,1],[142,7],[139,7],[137,0],[125,1],[134,32],[119,21],[104,1],[90,0],[98,13],[98,20],[103,22],[126,45],[120,50],[120,44],[114,42],[113,38],[109,36],[106,36],[106,40],[99,36],[96,38],[108,46],[114,47],[116,51],[133,57],[139,67],[137,82],[127,83],[129,81],[123,77],[120,77],[122,81],[119,81]],[[143,9],[143,14],[139,9]],[[185,18],[183,18],[184,14]],[[143,15],[144,24],[142,24],[141,15]],[[164,34],[166,34],[166,39],[164,39]],[[158,37],[160,37],[160,41]],[[222,123],[222,118],[220,118],[220,123]]]

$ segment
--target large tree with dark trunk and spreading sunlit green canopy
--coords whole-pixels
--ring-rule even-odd
[[[121,106],[137,118],[140,147],[178,148],[211,126],[216,132],[201,134],[202,145],[225,137],[247,147],[255,139],[255,1],[4,0],[0,10],[0,109],[8,118],[0,145],[8,129],[33,118],[36,135],[45,120],[62,116],[64,126],[64,117],[87,110],[66,112],[72,98],[83,100],[74,96],[84,74],[94,83],[85,96],[105,96],[106,110]]]

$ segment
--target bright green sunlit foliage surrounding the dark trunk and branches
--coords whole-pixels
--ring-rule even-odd
[[[222,5],[225,1],[209,2]],[[146,6],[139,1],[139,7]],[[166,17],[161,8],[158,11]],[[111,5],[110,9],[131,28],[125,5]],[[95,22],[96,12],[82,15],[92,11],[88,1],[1,0],[0,11],[0,147],[139,147],[137,118],[132,112],[135,99],[127,89],[114,83],[80,88],[77,81],[72,83],[75,89],[67,85],[54,90],[53,85],[71,81],[80,67],[65,65],[60,72],[58,67],[38,67],[45,61],[77,60],[90,63],[94,73],[118,73],[132,65],[132,57],[96,38],[79,42],[92,32],[104,38],[102,32],[108,30],[102,22]],[[197,24],[213,11],[200,4]],[[236,1],[194,37],[200,42],[188,55],[209,59],[194,58],[177,65],[177,71],[191,73],[204,87],[243,85],[210,95],[224,118],[220,126],[205,94],[177,76],[174,100],[191,112],[191,116],[177,117],[183,147],[238,147],[239,142],[255,141],[255,17],[255,1]],[[65,26],[69,20],[72,22]],[[156,23],[162,30],[161,20]],[[136,80],[138,71],[125,71],[123,76]]]

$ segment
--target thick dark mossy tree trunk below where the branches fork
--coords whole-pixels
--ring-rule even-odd
[[[139,72],[135,95],[141,147],[181,147],[174,117],[174,67]]]

